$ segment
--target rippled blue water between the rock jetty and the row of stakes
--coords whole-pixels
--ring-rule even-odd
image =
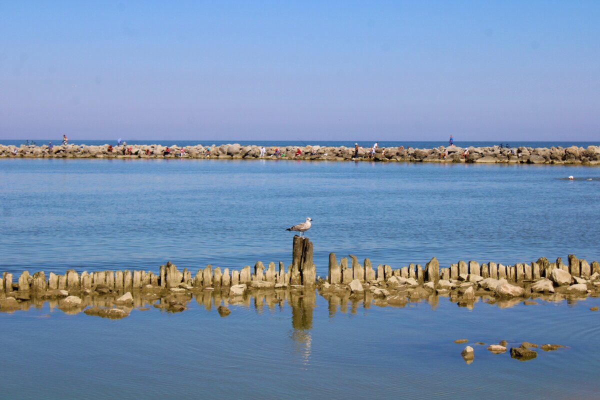
[[[287,265],[284,229],[307,216],[322,276],[329,252],[591,261],[599,198],[600,169],[581,166],[4,159],[0,270]]]

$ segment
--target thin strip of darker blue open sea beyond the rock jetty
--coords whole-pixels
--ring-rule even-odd
[[[0,139],[0,145],[4,146],[20,146],[25,145],[26,140],[28,139]],[[196,145],[229,145],[238,143],[241,146],[346,146],[353,147],[355,143],[358,143],[359,146],[363,148],[369,148],[373,146],[375,143],[373,140],[178,140],[178,139],[161,139],[161,140],[127,140],[127,138],[122,138],[128,145],[161,145],[161,146],[196,146]],[[62,142],[62,139],[59,137],[57,139],[34,139],[29,140],[29,143],[35,142],[36,145],[47,145],[52,142],[54,145],[59,145]],[[86,145],[86,146],[103,146],[103,145],[116,145],[117,139],[70,139],[69,143],[71,145]],[[437,148],[439,146],[448,146],[447,140],[394,140],[394,141],[380,141],[379,147],[381,148],[389,148],[389,147],[400,147],[404,146],[404,148],[412,147],[412,148]],[[529,147],[529,148],[551,148],[551,147],[562,147],[567,148],[571,146],[583,147],[587,146],[600,146],[600,142],[596,141],[557,141],[557,140],[521,140],[521,141],[507,141],[507,142],[495,142],[495,141],[477,141],[477,140],[455,140],[455,146],[459,147],[487,147],[487,146],[510,146],[512,148],[517,148],[520,146]]]

